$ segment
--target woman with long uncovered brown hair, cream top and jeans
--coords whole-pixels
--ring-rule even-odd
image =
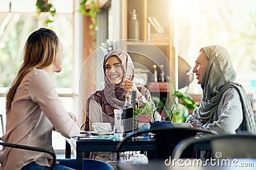
[[[52,131],[65,138],[79,134],[79,122],[65,111],[51,74],[61,71],[63,47],[51,29],[32,32],[24,48],[24,62],[6,94],[6,132],[3,141],[52,150]],[[100,163],[84,160],[86,164]],[[3,147],[0,169],[49,169],[47,153]],[[108,164],[101,162],[102,169]],[[76,169],[76,160],[58,160],[54,169]],[[95,169],[95,168],[94,168]]]

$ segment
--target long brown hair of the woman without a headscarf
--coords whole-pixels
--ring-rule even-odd
[[[6,113],[10,111],[13,97],[20,82],[32,69],[43,69],[56,60],[58,36],[51,29],[40,28],[32,32],[24,46],[23,63],[6,93]]]

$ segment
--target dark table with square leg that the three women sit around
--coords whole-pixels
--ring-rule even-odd
[[[120,140],[115,139],[66,139],[66,158],[70,156],[70,146],[76,148],[77,170],[83,169],[83,152],[115,152]],[[70,146],[68,146],[70,145]],[[127,141],[122,151],[154,151],[156,150],[154,138],[134,138]]]

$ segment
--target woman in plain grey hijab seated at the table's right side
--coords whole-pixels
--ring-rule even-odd
[[[255,130],[250,99],[235,82],[236,71],[225,48],[216,45],[201,48],[193,73],[203,95],[200,106],[186,122],[220,134]]]

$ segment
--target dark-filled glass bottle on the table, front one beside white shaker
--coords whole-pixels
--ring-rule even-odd
[[[125,94],[125,104],[123,106],[123,125],[125,132],[132,132],[133,129],[133,106],[131,103],[131,94]]]

